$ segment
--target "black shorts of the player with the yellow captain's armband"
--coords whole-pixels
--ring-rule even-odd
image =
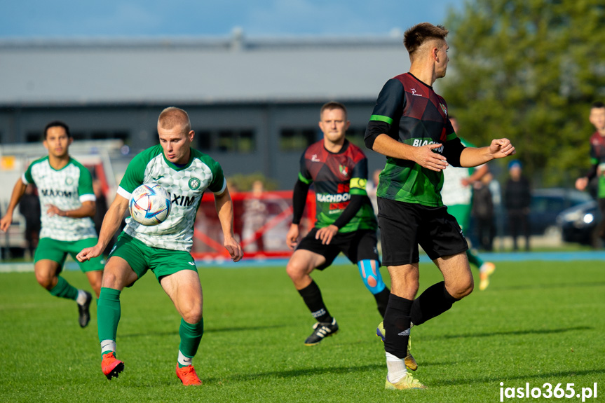
[[[325,257],[325,264],[318,268],[323,270],[332,264],[340,252],[356,264],[360,260],[376,260],[380,264],[378,249],[376,248],[376,231],[360,230],[346,233],[337,233],[330,241],[329,245],[322,245],[320,239],[315,239],[315,233],[319,228],[313,228],[306,237],[302,238],[297,250],[308,250]]]

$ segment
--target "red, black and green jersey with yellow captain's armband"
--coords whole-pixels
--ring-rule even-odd
[[[315,186],[315,227],[334,224],[344,212],[351,195],[367,196],[367,158],[355,144],[345,140],[338,153],[325,149],[323,139],[311,144],[301,156],[299,179]],[[376,230],[376,217],[370,203],[363,203],[357,214],[339,229],[346,233],[360,229]]]

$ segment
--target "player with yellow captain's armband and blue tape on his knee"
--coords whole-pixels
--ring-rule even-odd
[[[319,126],[323,139],[308,146],[301,157],[299,180],[294,186],[294,217],[286,238],[291,249],[296,247],[286,271],[318,321],[305,341],[307,346],[318,344],[338,331],[337,322],[329,314],[310,273],[315,268],[327,268],[340,252],[358,264],[381,315],[390,294],[379,271],[376,217],[365,189],[367,158],[358,146],[345,138],[349,121],[344,105],[325,104],[320,111]],[[317,221],[315,228],[297,243],[299,222],[311,183],[317,198]]]

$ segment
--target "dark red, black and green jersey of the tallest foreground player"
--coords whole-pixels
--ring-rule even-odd
[[[446,156],[450,165],[459,166],[463,146],[447,117],[445,100],[410,73],[391,78],[378,96],[366,144],[373,144],[381,133],[410,146],[442,144],[433,151]],[[442,172],[422,168],[412,160],[387,157],[376,196],[440,207],[442,186]]]

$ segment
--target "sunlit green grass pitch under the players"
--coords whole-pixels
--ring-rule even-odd
[[[490,287],[412,329],[414,375],[427,390],[384,390],[386,364],[374,299],[355,266],[313,277],[341,331],[306,347],[313,318],[284,268],[200,268],[205,334],[193,360],[201,387],[175,375],[179,316],[154,275],[122,293],[118,358],[102,375],[96,307],[86,329],[74,302],[33,273],[0,274],[1,402],[499,402],[504,387],[598,383],[605,401],[605,265],[508,262]],[[386,269],[383,269],[386,275]],[[475,272],[476,275],[476,272]],[[64,273],[89,289],[79,272]],[[440,280],[421,264],[421,288]],[[504,399],[580,402],[581,399]]]

